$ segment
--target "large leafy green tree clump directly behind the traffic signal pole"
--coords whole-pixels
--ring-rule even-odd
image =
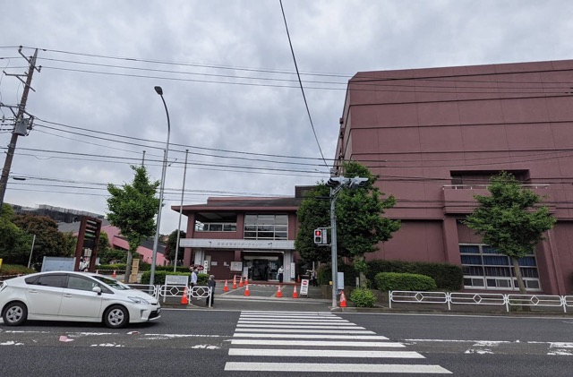
[[[349,161],[342,168],[346,177],[368,178],[363,187],[343,189],[338,194],[335,206],[338,257],[355,259],[355,267],[363,274],[364,253],[378,250],[377,244],[388,241],[400,228],[399,220],[382,216],[385,210],[396,204],[396,200],[391,195],[383,198],[384,193],[374,185],[377,177],[367,167]],[[330,248],[318,246],[313,241],[313,229],[330,225],[329,187],[323,182],[318,183],[304,197],[296,216],[300,224],[295,240],[296,250],[304,259],[329,261]]]

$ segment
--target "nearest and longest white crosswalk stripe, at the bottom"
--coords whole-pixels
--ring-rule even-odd
[[[226,371],[256,371],[256,372],[326,372],[326,373],[444,373],[449,370],[440,365],[420,364],[301,364],[301,363],[235,363],[225,364]]]

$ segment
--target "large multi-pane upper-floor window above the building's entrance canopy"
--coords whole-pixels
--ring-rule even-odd
[[[244,215],[244,239],[288,239],[288,216]]]

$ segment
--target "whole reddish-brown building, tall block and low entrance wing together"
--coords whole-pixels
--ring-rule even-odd
[[[520,261],[528,290],[570,293],[572,87],[573,61],[357,73],[348,83],[336,159],[358,161],[381,176],[382,192],[398,200],[387,216],[403,224],[367,259],[447,261],[463,267],[467,290],[517,289],[509,258],[460,223],[474,210],[474,195],[488,194],[490,177],[504,170],[547,195],[559,219]],[[277,266],[290,269],[296,258],[300,198],[184,206],[185,262],[207,261],[220,276],[240,262],[275,279]]]

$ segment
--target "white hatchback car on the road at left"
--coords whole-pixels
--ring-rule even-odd
[[[38,272],[0,283],[4,324],[24,321],[101,322],[119,329],[127,323],[157,320],[158,300],[123,283],[89,272]]]

